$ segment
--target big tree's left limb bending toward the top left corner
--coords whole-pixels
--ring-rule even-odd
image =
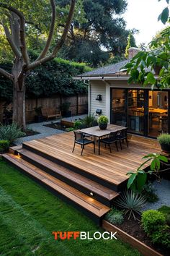
[[[27,54],[27,46],[26,46],[26,41],[25,41],[25,20],[24,20],[24,15],[22,12],[19,12],[19,10],[15,9],[14,7],[9,6],[8,4],[3,4],[0,3],[0,7],[4,9],[8,9],[11,12],[14,12],[17,14],[20,20],[20,41],[21,41],[21,52],[22,52],[22,57],[24,59],[24,62],[26,64],[30,63],[29,56]]]

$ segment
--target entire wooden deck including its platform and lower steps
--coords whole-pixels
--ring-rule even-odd
[[[133,171],[142,157],[160,152],[156,140],[129,138],[129,148],[101,147],[101,155],[93,153],[93,146],[73,148],[73,132],[24,142],[3,155],[25,175],[49,189],[62,200],[71,203],[90,218],[101,223],[104,215],[126,187],[128,171]],[[98,150],[97,150],[98,151]]]

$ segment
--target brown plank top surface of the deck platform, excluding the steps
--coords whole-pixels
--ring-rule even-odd
[[[123,145],[122,150],[115,149],[112,145],[112,154],[108,148],[101,146],[101,155],[93,153],[93,146],[86,145],[83,155],[81,156],[81,147],[76,145],[74,153],[73,132],[53,135],[40,140],[24,142],[24,148],[38,150],[42,154],[56,158],[59,161],[67,163],[73,168],[79,168],[87,174],[92,174],[99,179],[111,184],[119,185],[127,181],[128,171],[134,171],[140,163],[142,157],[148,153],[158,153],[160,148],[156,140],[146,139],[138,136],[130,136],[129,148]]]

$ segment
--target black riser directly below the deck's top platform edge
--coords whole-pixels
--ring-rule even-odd
[[[112,184],[110,182],[105,181],[104,179],[99,179],[99,177],[94,176],[93,174],[89,174],[86,171],[80,169],[80,168],[76,168],[75,166],[71,166],[69,163],[66,163],[65,161],[61,161],[60,159],[54,158],[51,155],[48,155],[46,153],[42,153],[41,151],[32,148],[28,145],[24,145],[23,144],[23,148],[30,150],[30,152],[35,153],[37,155],[40,155],[44,158],[47,158],[48,160],[52,161],[53,163],[58,163],[61,166],[70,169],[71,171],[76,172],[77,174],[81,174],[82,176],[85,176],[88,179],[93,180],[94,182],[97,182],[99,184],[102,184],[104,187],[108,187],[109,189],[114,190],[115,192],[119,192],[119,187],[116,184]]]

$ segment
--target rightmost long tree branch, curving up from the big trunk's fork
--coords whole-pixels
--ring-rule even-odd
[[[66,26],[63,31],[63,35],[61,36],[61,39],[59,40],[59,42],[56,44],[55,48],[53,49],[53,53],[38,60],[38,61],[34,61],[31,64],[28,64],[27,67],[25,67],[26,71],[30,70],[30,69],[35,69],[35,67],[37,67],[38,65],[43,64],[46,61],[50,61],[55,58],[56,54],[58,53],[58,50],[63,46],[63,43],[66,40],[66,36],[67,36],[68,30],[69,30],[69,27],[71,25],[71,21],[73,18],[73,11],[74,11],[75,4],[76,4],[76,0],[71,0],[71,7],[69,10],[69,14],[68,14]]]

